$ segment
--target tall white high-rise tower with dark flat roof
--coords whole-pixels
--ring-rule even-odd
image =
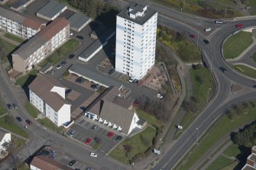
[[[116,18],[115,70],[142,79],[154,66],[157,11],[131,3]]]

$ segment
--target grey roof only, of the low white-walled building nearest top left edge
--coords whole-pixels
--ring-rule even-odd
[[[47,18],[53,18],[58,14],[63,8],[66,8],[66,5],[61,4],[55,0],[50,0],[47,5],[44,5],[43,8],[37,11],[38,14],[44,15]]]

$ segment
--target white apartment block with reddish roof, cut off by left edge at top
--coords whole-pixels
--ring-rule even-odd
[[[0,29],[8,33],[28,39],[37,34],[43,25],[45,26],[46,24],[17,11],[0,6]]]

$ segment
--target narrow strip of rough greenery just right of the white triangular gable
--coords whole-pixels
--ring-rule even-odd
[[[141,109],[137,109],[136,111],[138,113],[138,117],[140,117],[144,120],[147,120],[148,124],[158,127],[158,130],[162,130],[162,128],[164,127],[164,123],[162,121],[158,120],[153,115],[147,114],[146,112],[142,111]]]

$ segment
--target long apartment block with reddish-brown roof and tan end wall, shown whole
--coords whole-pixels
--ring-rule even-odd
[[[40,63],[69,38],[69,21],[65,18],[56,18],[11,54],[13,69],[24,73],[30,71],[33,65]]]

